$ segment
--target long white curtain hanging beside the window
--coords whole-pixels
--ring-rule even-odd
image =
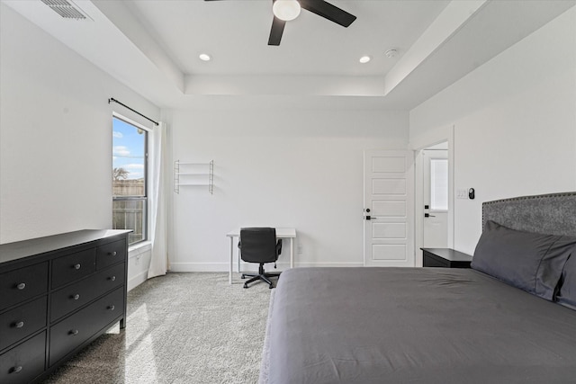
[[[150,174],[152,176],[149,192],[150,230],[152,237],[152,257],[148,268],[148,279],[166,274],[168,254],[166,251],[166,124],[160,122],[152,130],[150,137]]]

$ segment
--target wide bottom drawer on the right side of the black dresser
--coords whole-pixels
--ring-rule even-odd
[[[123,308],[124,290],[119,288],[50,327],[49,365],[58,362],[113,319],[120,317]]]

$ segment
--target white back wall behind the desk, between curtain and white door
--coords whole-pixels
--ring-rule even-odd
[[[296,266],[362,265],[363,152],[406,148],[408,112],[173,112],[174,159],[214,160],[215,186],[173,198],[173,271],[226,271],[238,227],[297,229]],[[280,266],[289,260],[285,248]]]

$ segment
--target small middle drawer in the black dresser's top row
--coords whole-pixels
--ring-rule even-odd
[[[58,257],[52,262],[52,288],[58,288],[93,273],[96,270],[95,256],[96,250],[91,248]]]

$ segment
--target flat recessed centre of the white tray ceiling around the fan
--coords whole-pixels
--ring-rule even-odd
[[[280,46],[268,46],[272,0],[126,2],[186,74],[384,76],[449,3],[330,0],[357,20],[348,28],[302,10]],[[198,59],[210,53],[210,63]],[[361,65],[358,59],[374,61]],[[400,55],[399,55],[400,57]]]

